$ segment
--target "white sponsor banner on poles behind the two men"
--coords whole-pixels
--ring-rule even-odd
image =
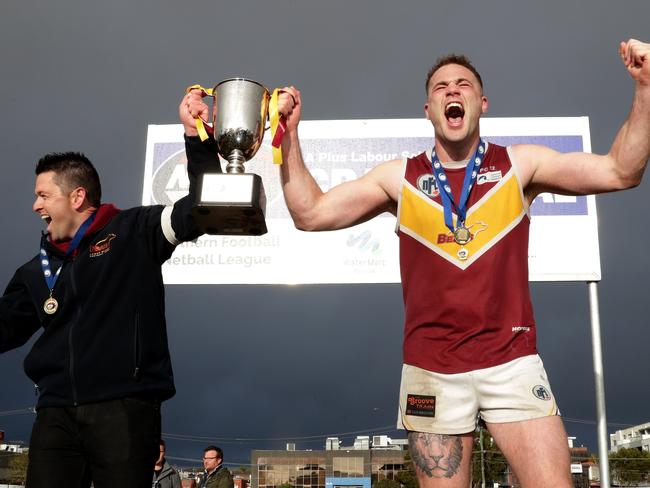
[[[591,151],[587,117],[487,118],[490,142],[544,144],[558,151]],[[356,179],[377,164],[431,148],[425,119],[302,121],[303,156],[323,190]],[[223,162],[223,161],[222,161]],[[224,167],[225,167],[225,162]],[[188,191],[181,125],[150,125],[143,205],[169,205]],[[202,236],[183,243],[163,266],[167,284],[300,284],[399,282],[395,217],[333,232],[294,228],[282,197],[268,138],[246,172],[262,176],[269,232],[261,237]],[[499,175],[487,175],[498,178]],[[531,281],[600,280],[593,196],[543,194],[531,207]]]

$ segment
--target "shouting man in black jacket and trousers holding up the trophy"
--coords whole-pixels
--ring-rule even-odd
[[[220,171],[187,107],[190,194],[173,207],[101,204],[83,154],[37,165],[33,209],[47,231],[0,298],[0,352],[43,329],[24,363],[39,391],[29,488],[151,486],[160,402],[175,392],[161,265],[200,234],[190,214],[198,173]]]

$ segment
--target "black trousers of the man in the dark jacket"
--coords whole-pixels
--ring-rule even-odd
[[[151,488],[159,440],[157,400],[40,408],[26,488]]]

